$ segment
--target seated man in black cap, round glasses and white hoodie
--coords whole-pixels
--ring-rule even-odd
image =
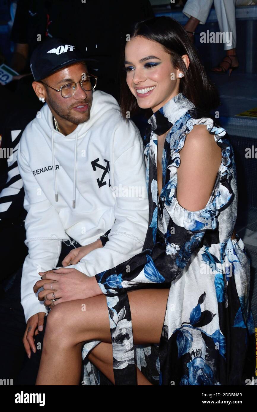
[[[85,274],[92,277],[141,251],[148,219],[139,131],[121,119],[113,96],[95,91],[97,77],[87,72],[84,56],[76,46],[51,39],[35,49],[30,66],[35,94],[46,104],[26,126],[18,149],[28,212],[21,304],[29,358],[31,349],[38,352],[33,338],[48,313],[33,292],[38,272],[61,266],[64,242],[73,248],[90,245],[90,253],[85,250],[87,255],[66,269],[68,293],[41,281],[49,285],[45,295],[83,298]],[[124,190],[129,188],[134,192]],[[101,247],[99,236],[108,229],[109,240]]]

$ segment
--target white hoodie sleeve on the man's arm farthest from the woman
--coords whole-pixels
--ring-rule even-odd
[[[24,208],[28,212],[25,219],[25,243],[28,246],[28,255],[24,261],[21,277],[21,304],[27,322],[28,318],[38,312],[48,313],[43,302],[38,300],[38,293],[33,292],[33,286],[40,280],[38,272],[49,270],[57,265],[61,253],[61,241],[68,239],[68,236],[57,211],[45,197],[28,165],[24,155],[26,144],[22,144],[24,143],[22,137],[17,159],[25,191]]]

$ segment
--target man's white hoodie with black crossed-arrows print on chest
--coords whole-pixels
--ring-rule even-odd
[[[110,269],[141,251],[148,201],[139,131],[120,117],[117,101],[103,91],[93,93],[90,119],[67,136],[54,129],[45,103],[21,136],[18,166],[28,212],[21,279],[27,322],[47,313],[33,286],[38,272],[56,267],[61,241],[71,236],[85,246],[111,229],[103,248],[70,266],[88,276]]]

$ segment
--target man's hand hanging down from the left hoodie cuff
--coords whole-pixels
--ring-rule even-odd
[[[28,319],[27,327],[22,339],[28,358],[31,357],[31,349],[34,353],[36,351],[34,336],[38,335],[38,330],[43,330],[45,315],[45,312],[39,312]]]

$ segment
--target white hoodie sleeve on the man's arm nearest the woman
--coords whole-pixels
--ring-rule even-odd
[[[148,227],[144,149],[138,129],[119,122],[113,136],[111,187],[116,197],[115,223],[103,248],[92,250],[74,267],[88,276],[125,262],[141,252]]]

